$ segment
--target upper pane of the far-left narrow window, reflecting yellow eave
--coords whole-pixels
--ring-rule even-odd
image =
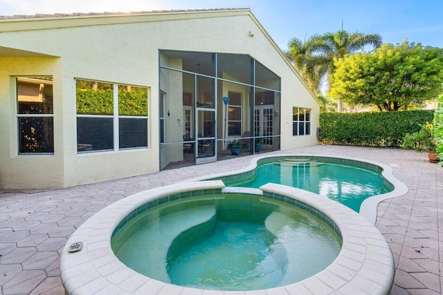
[[[17,104],[19,114],[52,114],[53,78],[17,78]]]

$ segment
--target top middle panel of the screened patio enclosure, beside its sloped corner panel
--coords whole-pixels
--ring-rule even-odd
[[[217,54],[217,77],[244,84],[251,82],[251,60],[248,55]]]

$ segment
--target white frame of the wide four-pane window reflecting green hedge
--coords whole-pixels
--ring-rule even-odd
[[[74,93],[75,93],[75,154],[76,155],[82,155],[84,153],[106,153],[106,152],[118,152],[118,151],[132,151],[132,150],[139,150],[139,149],[150,149],[150,140],[149,140],[149,134],[150,134],[150,87],[148,86],[136,86],[133,84],[122,84],[117,82],[102,82],[99,80],[91,80],[91,79],[82,79],[82,78],[75,78],[74,79]],[[103,83],[103,84],[111,84],[112,90],[113,90],[113,112],[111,115],[105,114],[78,114],[77,112],[77,82],[78,81],[85,81],[85,82],[96,82],[96,83]],[[146,90],[146,103],[147,103],[147,110],[146,115],[120,115],[119,114],[119,86],[131,86],[136,88],[144,88]],[[78,151],[78,118],[100,118],[100,119],[111,119],[112,120],[112,148],[111,149],[97,149],[97,150],[85,150],[85,151]],[[146,146],[134,146],[134,147],[120,147],[120,119],[143,119],[146,120]]]

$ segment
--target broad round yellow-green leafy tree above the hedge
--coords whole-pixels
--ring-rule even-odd
[[[443,50],[420,44],[384,44],[374,53],[335,59],[329,95],[380,111],[421,106],[442,93]]]

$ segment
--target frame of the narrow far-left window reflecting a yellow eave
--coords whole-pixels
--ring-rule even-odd
[[[55,135],[54,135],[54,131],[55,131],[55,127],[54,127],[54,91],[52,93],[52,113],[47,113],[47,114],[39,114],[39,113],[19,113],[19,79],[48,79],[51,78],[51,84],[53,85],[54,79],[52,75],[21,75],[21,76],[14,76],[14,85],[15,85],[15,97],[14,97],[14,102],[15,102],[15,138],[16,138],[16,146],[17,146],[17,155],[19,156],[27,156],[27,155],[31,155],[31,156],[39,156],[39,155],[54,155],[55,154]],[[25,153],[25,152],[21,152],[20,151],[20,118],[26,118],[26,117],[32,117],[32,118],[52,118],[52,146],[53,146],[53,151],[52,152],[43,152],[43,153]]]

